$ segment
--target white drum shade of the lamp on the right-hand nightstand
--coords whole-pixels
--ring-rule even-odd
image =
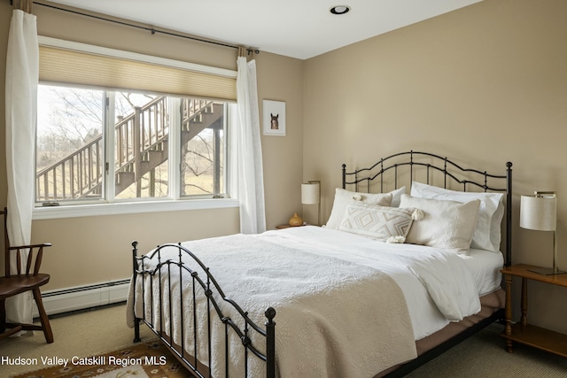
[[[555,231],[557,224],[557,197],[522,196],[520,202],[520,227],[539,231]]]

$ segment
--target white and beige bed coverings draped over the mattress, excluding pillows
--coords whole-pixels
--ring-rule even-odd
[[[276,308],[276,359],[283,377],[372,376],[415,358],[414,340],[480,310],[473,277],[462,258],[448,251],[378,243],[315,227],[231,235],[183,245],[204,260],[225,294],[245,308],[257,324],[265,321],[263,310]],[[190,283],[183,286],[186,292]],[[149,292],[149,281],[146,288]],[[174,297],[179,295],[175,285],[172,292]],[[184,298],[192,301],[189,294]],[[128,300],[131,302],[132,297]],[[202,298],[197,300],[205,303]],[[173,302],[175,308],[177,302]],[[165,313],[168,308],[166,300]],[[183,308],[183,319],[192,324],[188,308]],[[224,305],[223,311],[229,311],[228,306]],[[136,315],[143,313],[142,301],[137,300]],[[198,313],[198,338],[206,335],[205,314]],[[153,316],[154,323],[160,324],[157,305]],[[423,317],[426,320],[421,324]],[[164,319],[161,323],[168,334],[173,333],[175,343],[181,343],[180,322]],[[132,313],[128,313],[128,324],[133,325]],[[223,327],[217,324],[213,330],[221,334]],[[195,352],[191,338],[192,333],[186,335],[184,343]],[[259,349],[263,351],[263,339],[251,338],[260,340]],[[241,370],[242,356],[237,352],[240,341],[235,337],[234,343],[231,365]],[[223,344],[216,347],[223,348]],[[197,353],[206,362],[206,349],[200,348]],[[263,364],[255,358],[249,360],[249,375],[262,376]],[[222,358],[213,361],[214,376],[223,376],[223,366]]]

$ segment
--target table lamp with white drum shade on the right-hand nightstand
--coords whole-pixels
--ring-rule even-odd
[[[533,268],[537,274],[563,274],[557,259],[557,196],[553,191],[536,191],[533,196],[522,196],[520,202],[520,227],[538,231],[553,231],[553,267]]]

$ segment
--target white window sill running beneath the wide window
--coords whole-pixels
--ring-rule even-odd
[[[234,198],[190,199],[182,201],[151,201],[121,204],[75,204],[36,207],[33,220],[91,217],[97,215],[136,214],[141,212],[175,212],[183,210],[224,209],[238,207]]]

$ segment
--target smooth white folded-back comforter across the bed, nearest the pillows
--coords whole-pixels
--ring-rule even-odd
[[[293,240],[304,248],[315,247],[311,250],[313,253],[347,259],[389,274],[406,297],[416,340],[439,331],[450,321],[462,320],[480,311],[478,297],[497,289],[501,282],[500,278],[491,277],[488,286],[479,287],[487,281],[483,269],[498,272],[502,266],[499,253],[473,250],[489,258],[484,266],[474,266],[471,270],[473,253],[469,257],[421,245],[379,243],[329,228],[281,231],[281,234],[268,231],[264,235]],[[479,274],[479,278],[475,279],[473,273]]]

